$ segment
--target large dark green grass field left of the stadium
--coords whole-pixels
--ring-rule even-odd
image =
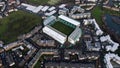
[[[5,44],[17,40],[21,34],[29,32],[41,23],[41,17],[23,11],[11,13],[0,19],[0,40]]]

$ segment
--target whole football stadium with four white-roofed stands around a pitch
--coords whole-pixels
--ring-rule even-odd
[[[80,22],[64,15],[60,15],[58,18],[50,16],[43,23],[45,26],[43,32],[61,44],[66,41],[75,44],[82,35],[82,30],[79,28]]]

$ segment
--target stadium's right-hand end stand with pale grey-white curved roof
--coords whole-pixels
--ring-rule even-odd
[[[79,41],[81,35],[82,35],[81,29],[79,27],[76,27],[76,29],[68,37],[68,41],[72,44],[75,44],[75,42]]]

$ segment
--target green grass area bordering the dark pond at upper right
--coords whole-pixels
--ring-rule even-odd
[[[97,23],[102,26],[104,23],[102,22],[102,16],[105,14],[110,14],[110,15],[117,15],[120,16],[120,12],[112,11],[109,9],[101,8],[100,6],[96,6],[92,10],[92,16],[93,18],[96,19]]]

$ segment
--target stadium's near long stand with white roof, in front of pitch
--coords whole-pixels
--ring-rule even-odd
[[[67,35],[61,33],[60,31],[52,28],[49,25],[43,28],[43,32],[55,39],[56,41],[60,42],[61,44],[64,44],[67,39]]]

